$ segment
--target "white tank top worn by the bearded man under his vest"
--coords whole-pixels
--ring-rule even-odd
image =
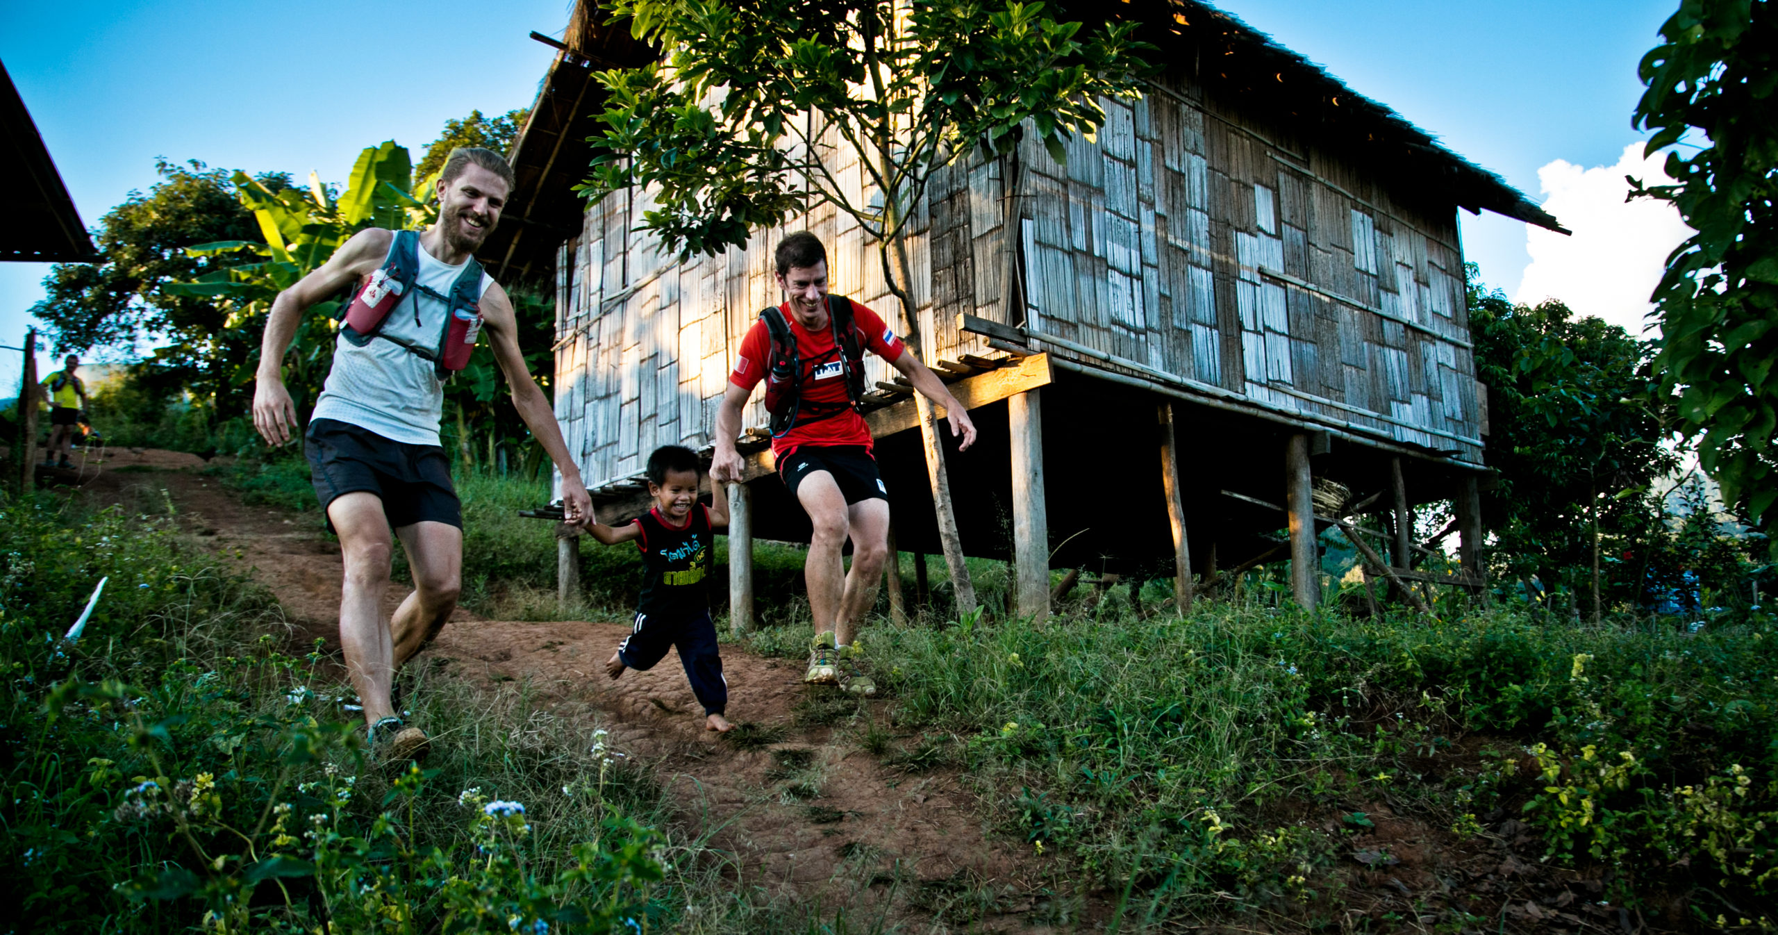
[[[389,249],[395,249],[395,238],[389,238]],[[434,260],[425,244],[420,244],[416,252],[420,254],[420,272],[414,283],[439,295],[450,295],[452,284],[457,283],[457,276],[469,261],[448,267]],[[388,254],[384,254],[384,261],[388,261]],[[485,295],[489,284],[493,279],[484,272],[478,295]],[[382,332],[414,341],[420,347],[436,345],[448,309],[437,299],[425,297],[421,300],[421,295],[418,288],[409,292],[382,320]],[[418,324],[414,320],[416,302]],[[395,341],[372,338],[364,347],[357,347],[341,336],[334,338],[332,368],[327,372],[322,395],[315,400],[311,418],[352,423],[407,444],[437,444],[443,409],[444,384],[439,382],[437,366],[432,361]]]

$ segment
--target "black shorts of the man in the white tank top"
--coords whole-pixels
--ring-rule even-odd
[[[450,523],[462,528],[462,503],[450,460],[437,444],[407,444],[338,420],[311,420],[302,444],[322,512],[341,494],[370,491],[389,526]],[[332,530],[332,519],[327,521]]]

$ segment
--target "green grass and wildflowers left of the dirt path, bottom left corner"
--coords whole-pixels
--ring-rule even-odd
[[[100,578],[84,636],[59,643]],[[188,544],[164,501],[0,498],[12,931],[313,931],[324,912],[338,931],[820,924],[734,889],[644,766],[525,683],[405,672],[436,743],[404,775],[364,759],[340,659],[286,640],[270,595]],[[477,807],[496,798],[525,812]]]

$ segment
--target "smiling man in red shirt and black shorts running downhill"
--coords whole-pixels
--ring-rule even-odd
[[[889,361],[914,389],[944,407],[951,434],[962,439],[958,450],[974,444],[976,427],[939,377],[909,354],[901,338],[875,311],[837,295],[829,299],[827,249],[820,238],[807,231],[789,235],[777,245],[775,260],[777,283],[788,295],[775,311],[789,325],[788,336],[795,338],[795,361],[775,352],[766,316],[754,322],[741,340],[740,359],[717,411],[717,455],[709,473],[718,482],[740,480],[741,455],[734,450],[734,437],[741,430],[741,407],[754,386],[770,375],[766,404],[777,404],[772,453],[779,476],[814,524],[804,579],[816,636],[804,681],[873,695],[877,686],[857,667],[841,667],[841,659],[852,656],[859,617],[875,601],[889,556],[889,491],[871,457],[871,430],[855,405],[862,386],[862,352]],[[850,336],[841,332],[848,311]],[[848,356],[848,348],[857,356]],[[789,363],[797,364],[795,370]],[[777,373],[772,373],[773,366]],[[839,556],[848,537],[850,574]]]

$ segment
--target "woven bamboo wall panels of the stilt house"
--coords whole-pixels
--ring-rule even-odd
[[[1172,373],[1186,389],[1245,395],[1255,412],[1481,462],[1454,208],[1433,212],[1426,192],[1396,192],[1312,135],[1184,80],[1101,103],[1106,124],[1092,142],[1069,140],[1065,164],[1026,133],[1015,172],[973,158],[933,174],[909,236],[928,361],[990,352],[957,329],[969,313]],[[823,139],[848,196],[869,203],[864,167]],[[816,208],[679,265],[635,231],[647,208],[645,192],[594,204],[558,263],[557,418],[590,483],[640,469],[658,444],[711,441],[741,336],[781,299],[772,249],[789,231],[823,238],[834,292],[909,327],[877,244],[845,213]],[[1008,270],[1022,277],[1019,306]],[[871,357],[869,382],[891,375]],[[757,396],[747,425],[765,421]]]

